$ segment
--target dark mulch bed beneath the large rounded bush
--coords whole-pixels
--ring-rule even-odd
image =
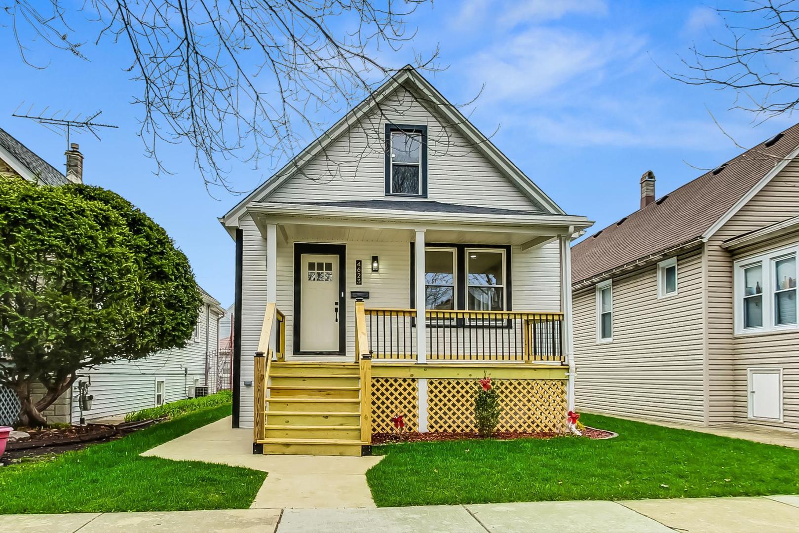
[[[0,463],[14,463],[15,459],[36,457],[39,455],[58,455],[65,451],[81,450],[92,444],[101,444],[121,439],[132,432],[147,428],[157,420],[141,422],[125,422],[123,424],[86,424],[67,428],[20,428],[30,434],[30,439],[18,440],[6,444],[6,453]]]

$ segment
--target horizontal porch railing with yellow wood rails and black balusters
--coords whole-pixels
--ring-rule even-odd
[[[415,360],[415,309],[365,309],[377,359]],[[427,360],[559,362],[563,313],[427,309]]]

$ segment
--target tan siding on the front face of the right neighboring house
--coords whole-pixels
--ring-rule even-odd
[[[766,337],[759,341],[751,339],[745,345],[733,341],[733,258],[720,245],[731,237],[797,214],[799,162],[792,161],[707,243],[710,424],[745,420],[746,366],[753,363],[753,358],[744,352],[763,355],[762,352],[768,348],[756,348],[755,345],[769,345],[765,342],[769,340]],[[789,354],[786,357],[789,358]],[[754,356],[754,360],[757,359],[758,356]]]

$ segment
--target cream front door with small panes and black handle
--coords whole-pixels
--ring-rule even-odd
[[[300,257],[300,350],[339,351],[339,256]]]

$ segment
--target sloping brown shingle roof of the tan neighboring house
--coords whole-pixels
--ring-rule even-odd
[[[572,283],[691,241],[706,241],[750,194],[797,157],[799,124],[779,135],[775,144],[761,142],[574,245]]]

